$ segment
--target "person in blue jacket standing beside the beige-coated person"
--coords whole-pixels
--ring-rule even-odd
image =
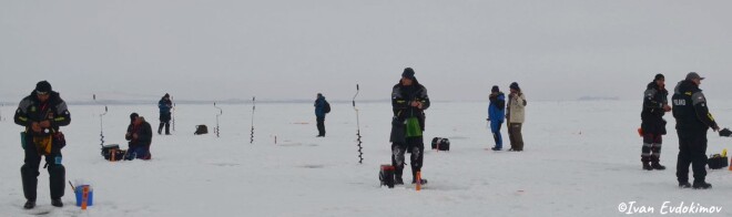
[[[506,118],[506,96],[504,92],[498,90],[498,86],[494,85],[490,89],[490,104],[488,104],[488,121],[490,122],[490,132],[494,133],[494,141],[496,141],[496,146],[492,151],[500,151],[504,147],[504,140],[500,136],[500,125],[504,124]]]

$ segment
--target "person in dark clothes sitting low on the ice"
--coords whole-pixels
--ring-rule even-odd
[[[138,115],[138,113],[130,114],[130,126],[124,138],[129,141],[128,153],[125,159],[150,159],[150,144],[152,143],[152,127],[145,117]]]

